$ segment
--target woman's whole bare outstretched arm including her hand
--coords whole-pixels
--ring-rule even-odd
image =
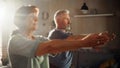
[[[101,42],[97,43],[97,41],[101,40]],[[36,51],[37,56],[41,56],[47,53],[60,53],[68,50],[74,50],[81,47],[94,47],[98,45],[102,45],[106,42],[106,37],[101,37],[98,34],[88,35],[87,38],[81,40],[51,40],[48,42],[43,42],[38,46]]]

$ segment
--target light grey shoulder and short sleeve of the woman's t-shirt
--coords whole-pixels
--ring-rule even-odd
[[[44,37],[36,37],[35,40],[30,40],[22,35],[15,35],[10,40],[9,51],[16,55],[35,57],[38,45],[47,40]]]

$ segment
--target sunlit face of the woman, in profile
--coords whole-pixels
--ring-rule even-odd
[[[30,13],[26,18],[26,29],[29,31],[34,31],[37,28],[38,13]]]

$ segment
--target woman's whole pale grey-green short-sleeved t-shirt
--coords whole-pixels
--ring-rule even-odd
[[[42,36],[30,40],[18,33],[9,40],[8,54],[12,68],[49,68],[48,55],[35,56],[38,44],[47,41]]]

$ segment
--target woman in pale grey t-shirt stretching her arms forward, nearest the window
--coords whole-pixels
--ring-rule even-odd
[[[90,34],[84,39],[75,36],[64,40],[34,36],[38,14],[36,6],[22,6],[15,14],[14,24],[18,29],[12,33],[8,46],[12,68],[49,68],[49,54],[99,46],[109,41],[107,34]]]

